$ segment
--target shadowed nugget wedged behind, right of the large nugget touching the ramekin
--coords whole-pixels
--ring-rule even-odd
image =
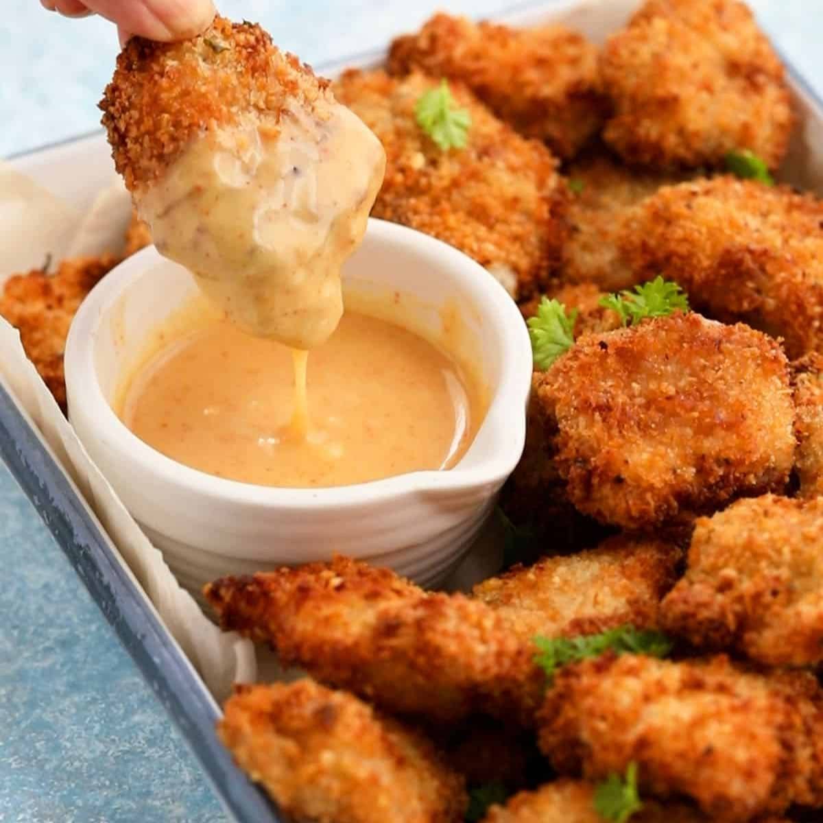
[[[631,169],[604,151],[582,157],[566,173],[570,185],[580,190],[571,196],[560,279],[591,281],[607,292],[632,286],[638,279],[620,248],[630,208],[683,175]]]

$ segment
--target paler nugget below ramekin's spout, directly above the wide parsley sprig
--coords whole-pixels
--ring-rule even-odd
[[[579,554],[545,557],[478,584],[472,595],[528,643],[535,635],[594,635],[620,625],[658,625],[681,551],[653,538],[610,537]]]

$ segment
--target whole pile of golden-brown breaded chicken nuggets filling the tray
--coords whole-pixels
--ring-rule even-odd
[[[471,121],[449,149],[416,120],[444,79]],[[221,740],[318,823],[823,819],[823,201],[770,180],[795,115],[749,9],[647,0],[601,48],[438,14],[332,90],[385,146],[374,216],[525,318],[559,301],[574,344],[534,372],[499,576],[430,592],[337,556],[207,586],[308,676],[238,686]],[[690,311],[602,300],[658,276]],[[52,386],[62,321],[25,324],[77,300],[42,277],[0,312]]]

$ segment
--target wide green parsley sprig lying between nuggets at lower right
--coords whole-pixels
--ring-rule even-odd
[[[578,637],[536,637],[532,641],[539,650],[534,662],[546,672],[546,685],[551,686],[557,669],[602,653],[645,654],[664,658],[672,650],[672,641],[663,632],[635,629],[631,624],[602,631],[599,635]]]

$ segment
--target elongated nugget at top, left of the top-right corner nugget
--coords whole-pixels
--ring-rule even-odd
[[[515,131],[545,140],[566,159],[597,133],[607,114],[597,49],[563,26],[512,29],[435,14],[389,49],[390,73],[414,68],[462,81]]]

